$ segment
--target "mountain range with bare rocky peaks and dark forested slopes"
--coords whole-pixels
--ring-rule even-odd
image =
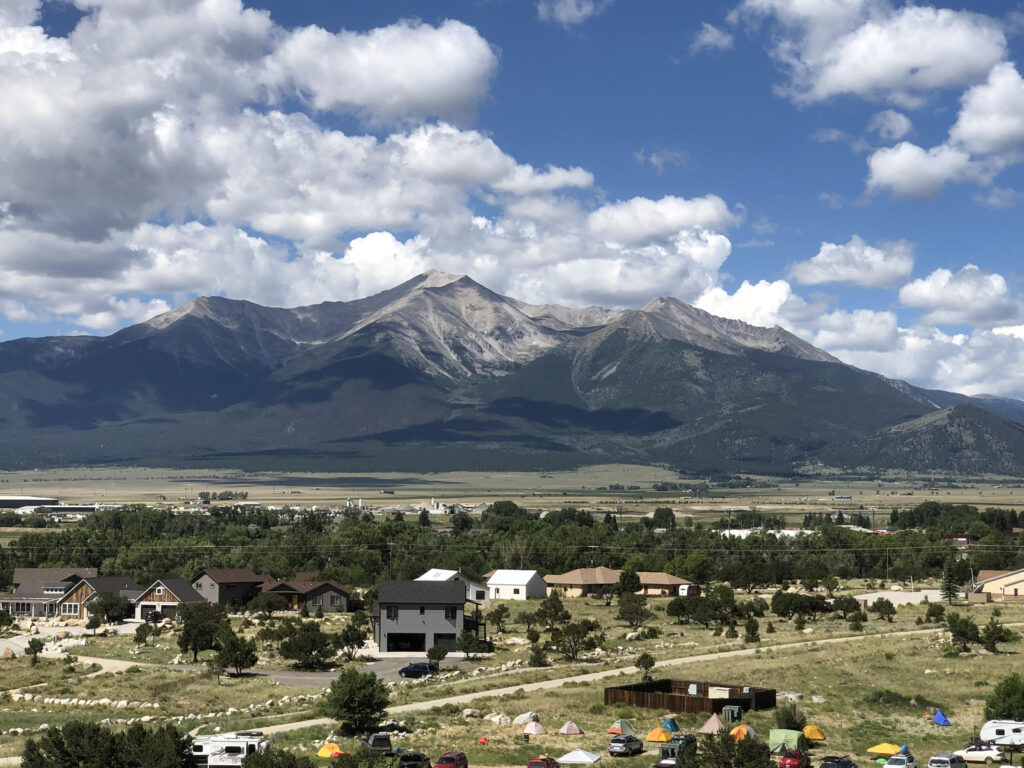
[[[436,271],[355,301],[202,297],[106,337],[0,344],[8,468],[1016,473],[1020,420],[1019,400],[912,387],[677,299],[530,305]]]

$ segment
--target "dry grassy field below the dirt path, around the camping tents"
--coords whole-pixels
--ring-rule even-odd
[[[984,698],[995,682],[1019,666],[1020,641],[1008,645],[1009,653],[967,658],[943,657],[931,636],[870,638],[858,643],[822,645],[796,650],[766,650],[758,655],[717,662],[659,668],[657,677],[700,679],[732,684],[774,687],[804,695],[800,707],[808,722],[819,725],[826,740],[813,754],[848,754],[860,765],[869,762],[865,750],[880,741],[907,744],[919,761],[940,752],[959,749],[976,733],[982,722]],[[623,682],[636,676],[623,676]],[[513,693],[501,697],[483,696],[471,706],[481,715],[500,712],[510,717],[537,712],[548,728],[547,735],[531,737],[523,744],[518,729],[483,720],[466,720],[462,708],[445,706],[402,718],[414,733],[399,737],[396,745],[422,750],[431,758],[449,750],[461,750],[472,765],[524,765],[541,753],[559,756],[578,746],[606,755],[608,725],[626,718],[644,735],[668,715],[674,715],[683,730],[692,731],[706,715],[680,716],[655,710],[625,706],[605,707],[603,689],[618,684],[615,679],[600,683],[568,683],[557,690]],[[815,703],[812,696],[824,700]],[[952,726],[931,723],[930,716],[942,709]],[[926,717],[928,713],[929,717]],[[750,713],[744,722],[767,736],[773,725],[770,711]],[[562,736],[555,731],[571,719],[585,731],[583,736]],[[279,734],[274,742],[308,754],[313,743],[329,735],[329,728],[305,728]],[[486,745],[477,743],[481,736]],[[353,740],[339,740],[343,749]],[[654,762],[653,746],[647,754],[616,759],[624,768],[640,768]],[[609,760],[605,757],[605,761]]]

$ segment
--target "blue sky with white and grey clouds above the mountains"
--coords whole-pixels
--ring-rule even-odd
[[[1024,398],[1024,2],[2,0],[0,340],[427,269]]]

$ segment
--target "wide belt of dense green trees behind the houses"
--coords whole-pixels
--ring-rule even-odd
[[[791,539],[773,532],[779,524],[775,516],[752,512],[733,515],[731,524],[760,526],[762,532],[737,540],[715,527],[679,527],[668,508],[620,525],[614,515],[602,522],[569,507],[541,518],[513,502],[498,502],[480,521],[453,515],[453,536],[438,537],[430,526],[375,520],[357,510],[334,519],[315,511],[213,507],[209,516],[200,516],[126,507],[90,515],[67,529],[27,530],[0,550],[0,584],[9,584],[14,567],[62,564],[126,573],[140,584],[190,579],[205,567],[246,567],[278,578],[312,570],[372,587],[386,574],[412,579],[430,567],[461,568],[479,578],[493,568],[561,572],[596,560],[609,567],[666,570],[701,585],[728,581],[753,592],[797,580],[811,586],[829,574],[939,577],[950,551],[941,536],[950,526],[963,531],[968,517],[969,531],[989,531],[984,546],[972,551],[975,570],[1024,566],[1024,551],[996,530],[1013,524],[1016,513],[929,502],[897,517],[900,526],[924,522],[925,529],[874,537],[828,518],[816,521],[813,534]],[[889,557],[894,553],[899,556]]]

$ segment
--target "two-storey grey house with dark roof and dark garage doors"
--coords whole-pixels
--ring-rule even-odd
[[[373,607],[374,642],[382,652],[455,650],[463,630],[480,637],[482,622],[467,616],[466,587],[459,582],[381,582]]]

